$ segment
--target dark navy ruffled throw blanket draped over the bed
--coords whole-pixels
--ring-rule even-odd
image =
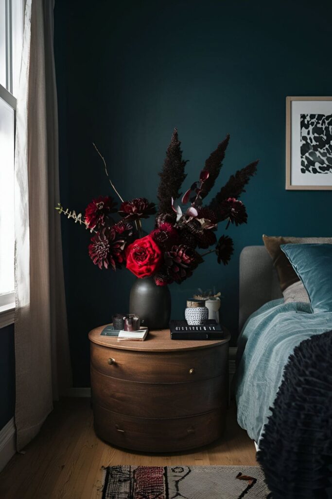
[[[273,499],[332,497],[332,332],[290,356],[257,459]]]

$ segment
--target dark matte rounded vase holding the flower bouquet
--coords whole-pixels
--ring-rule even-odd
[[[139,315],[141,326],[166,329],[171,315],[168,286],[157,286],[153,277],[136,279],[130,290],[129,313]]]

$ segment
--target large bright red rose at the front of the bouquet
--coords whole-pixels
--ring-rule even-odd
[[[137,277],[154,274],[163,259],[162,252],[150,236],[136,239],[126,249],[126,267]]]

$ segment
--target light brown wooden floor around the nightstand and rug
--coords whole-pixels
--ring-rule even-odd
[[[0,474],[2,499],[101,498],[102,466],[255,466],[255,448],[228,410],[222,439],[188,453],[148,455],[123,451],[96,437],[90,399],[63,399],[39,435]]]

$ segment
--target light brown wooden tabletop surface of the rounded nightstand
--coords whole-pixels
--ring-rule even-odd
[[[176,352],[180,350],[196,350],[223,345],[230,340],[230,335],[225,329],[225,337],[221,340],[171,340],[169,329],[149,331],[144,341],[118,341],[117,338],[101,336],[105,326],[96,327],[89,333],[89,339],[93,343],[120,350],[135,350],[140,352]]]

